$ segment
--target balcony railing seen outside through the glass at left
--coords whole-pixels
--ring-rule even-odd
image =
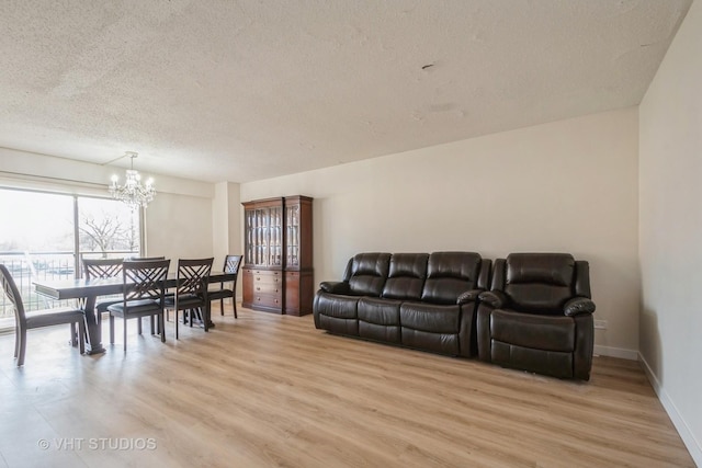
[[[110,251],[106,258],[124,258],[138,255],[133,251]],[[83,252],[80,258],[100,259],[104,258],[102,252]],[[82,276],[79,270],[76,274],[76,254],[73,252],[0,252],[0,263],[4,264],[20,289],[24,309],[27,311],[38,310],[49,307],[75,306],[73,301],[57,301],[48,297],[36,294],[33,282],[37,279],[72,279]],[[82,260],[78,263],[82,264]],[[0,328],[2,324],[14,326],[14,321],[9,321],[14,317],[12,303],[0,292]]]

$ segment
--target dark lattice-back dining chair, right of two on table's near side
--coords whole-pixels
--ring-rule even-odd
[[[185,317],[193,326],[196,311],[201,312],[201,319],[205,331],[210,330],[210,299],[207,296],[207,282],[212,272],[212,262],[208,259],[179,259],[176,279],[176,293],[166,297],[166,308],[176,312],[176,340],[178,340],[178,312],[183,311],[183,324]],[[204,309],[204,313],[202,313]]]

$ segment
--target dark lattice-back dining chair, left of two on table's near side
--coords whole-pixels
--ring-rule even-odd
[[[124,322],[124,351],[127,351],[127,320],[141,317],[156,317],[161,342],[166,341],[163,328],[163,306],[166,278],[170,260],[149,260],[122,262],[122,300],[107,306],[110,312],[110,343],[114,344],[114,318],[122,317]],[[139,327],[139,334],[141,329]],[[151,322],[151,334],[156,334]]]

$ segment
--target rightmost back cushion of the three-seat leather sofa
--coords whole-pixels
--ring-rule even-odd
[[[427,264],[421,300],[456,304],[458,296],[476,287],[482,258],[474,252],[433,252]]]

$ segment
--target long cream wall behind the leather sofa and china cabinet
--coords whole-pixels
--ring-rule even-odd
[[[315,282],[356,252],[565,251],[588,260],[596,352],[638,350],[637,109],[241,184],[315,197]]]

